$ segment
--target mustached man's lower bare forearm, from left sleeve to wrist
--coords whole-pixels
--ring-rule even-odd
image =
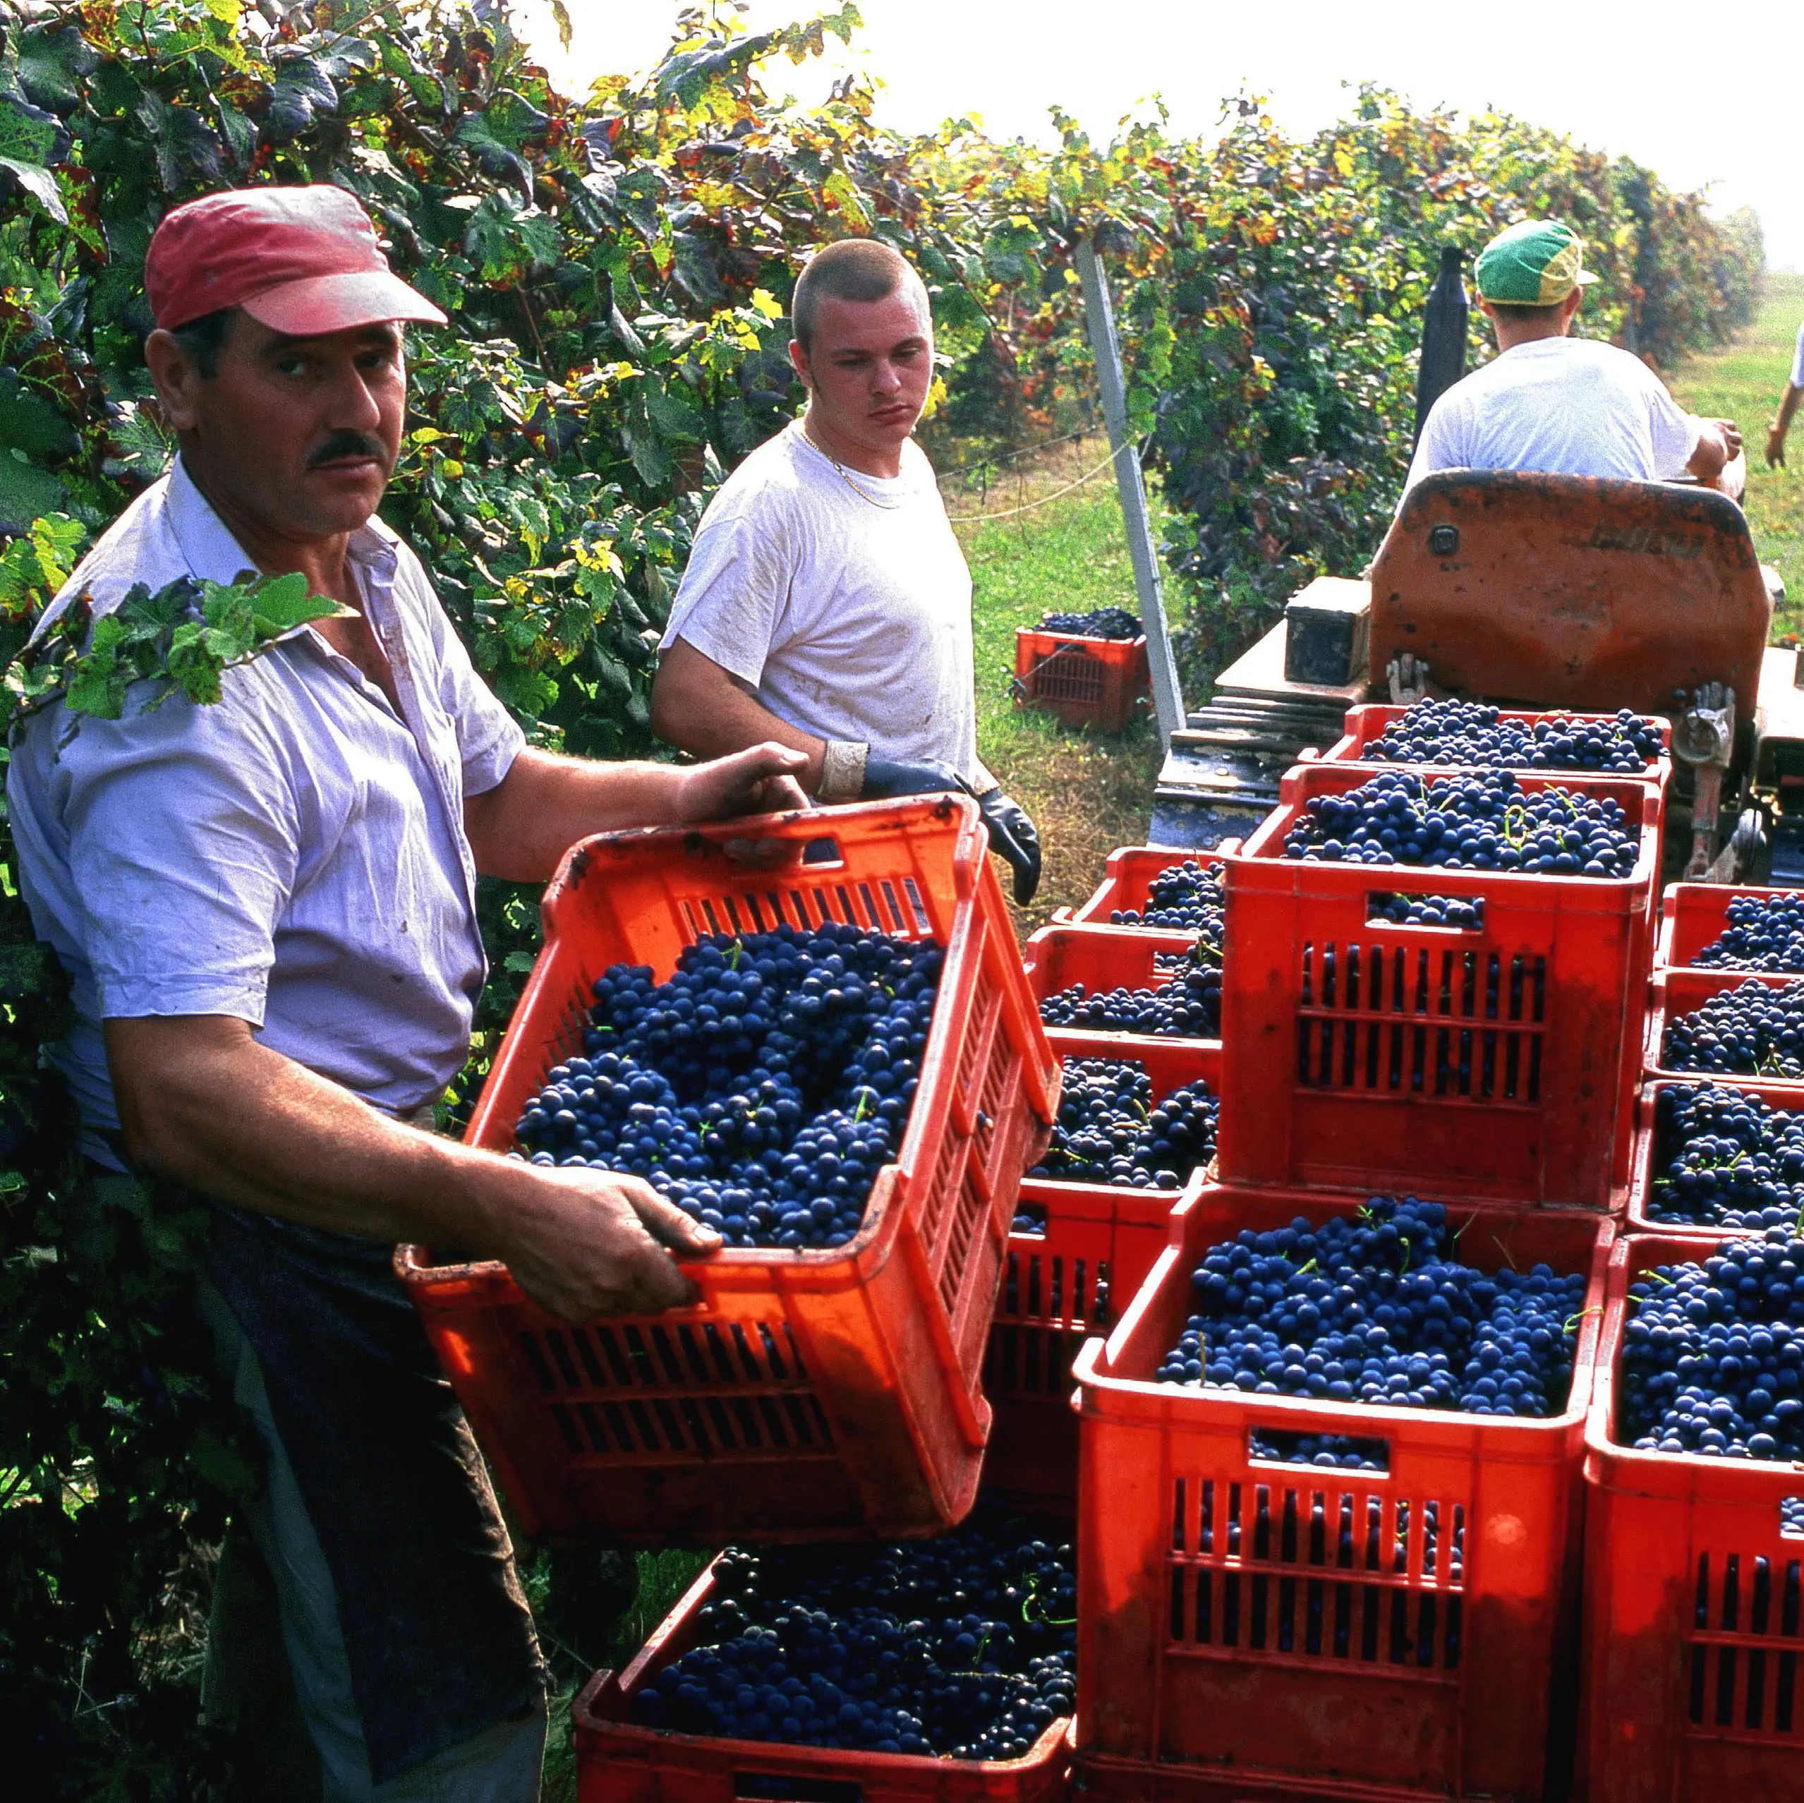
[[[520,1166],[402,1126],[258,1045],[244,1022],[110,1020],[132,1159],[222,1202],[330,1233],[498,1254]]]

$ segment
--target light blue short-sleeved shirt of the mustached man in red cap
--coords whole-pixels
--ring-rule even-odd
[[[372,520],[350,561],[399,715],[303,626],[227,670],[216,704],[171,695],[146,713],[139,684],[123,720],[72,722],[56,704],[14,735],[20,890],[74,980],[56,1058],[96,1155],[119,1124],[108,1018],[236,1016],[390,1114],[433,1101],[464,1063],[487,975],[464,796],[500,783],[523,736],[419,558]],[[133,583],[249,569],[177,460],[51,612],[81,590],[103,614]]]

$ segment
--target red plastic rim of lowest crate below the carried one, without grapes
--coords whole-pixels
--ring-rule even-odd
[[[1007,1761],[796,1747],[635,1727],[635,1693],[695,1646],[695,1617],[713,1588],[709,1565],[624,1671],[597,1671],[577,1695],[570,1715],[579,1803],[736,1803],[740,1798],[1063,1803],[1066,1798],[1070,1720],[1048,1725],[1026,1758]]]

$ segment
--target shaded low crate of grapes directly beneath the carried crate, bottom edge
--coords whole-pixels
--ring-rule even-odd
[[[940,1539],[729,1549],[575,1700],[581,1803],[1055,1803],[1070,1518],[985,1496]]]

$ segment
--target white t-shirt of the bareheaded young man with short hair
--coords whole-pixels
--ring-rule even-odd
[[[664,646],[686,639],[779,720],[978,789],[971,570],[920,446],[902,475],[841,471],[796,421],[702,514]]]

